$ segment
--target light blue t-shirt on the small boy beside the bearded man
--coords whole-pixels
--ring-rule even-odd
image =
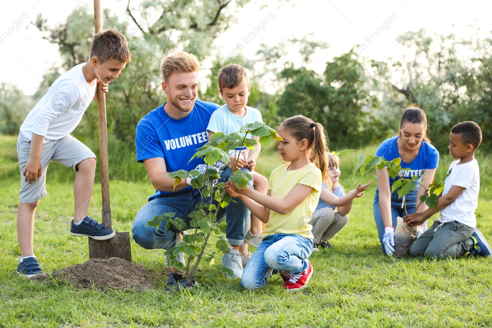
[[[227,104],[225,104],[217,109],[214,114],[212,114],[209,125],[207,126],[207,131],[212,131],[214,133],[239,132],[243,125],[253,122],[263,122],[259,110],[253,107],[246,106],[246,115],[244,117],[239,117],[232,114],[231,111],[227,108]],[[244,137],[244,133],[242,133],[241,135]],[[252,138],[250,133],[248,133],[246,137]]]

